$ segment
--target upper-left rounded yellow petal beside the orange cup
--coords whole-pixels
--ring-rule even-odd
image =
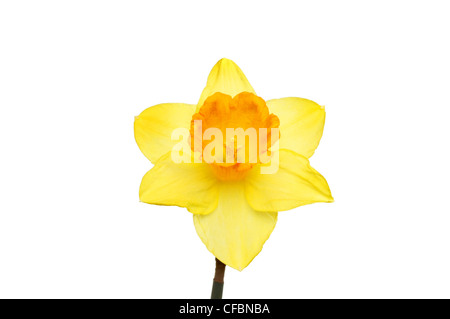
[[[155,163],[170,152],[178,141],[171,135],[176,128],[189,130],[195,105],[165,103],[149,107],[134,121],[134,137],[144,155]]]

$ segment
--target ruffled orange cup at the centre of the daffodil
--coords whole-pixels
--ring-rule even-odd
[[[242,92],[232,98],[218,92],[192,116],[191,148],[201,152],[219,179],[239,180],[267,161],[279,125],[278,117],[269,114],[266,102],[255,94]]]

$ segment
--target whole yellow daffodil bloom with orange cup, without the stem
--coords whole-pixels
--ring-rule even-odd
[[[193,146],[198,138],[195,121],[202,121],[200,136],[213,127],[224,134],[226,128],[254,127],[268,132],[279,128],[279,140],[275,141],[279,150],[274,148],[277,156],[272,158],[277,158],[278,170],[262,174],[261,169],[269,164],[259,157],[256,162],[246,157],[244,162],[232,164],[204,159],[175,163],[172,150],[180,145],[179,139],[172,139],[176,129],[190,133],[194,155],[189,156],[198,154]],[[209,74],[197,105],[159,104],[136,117],[136,142],[154,163],[142,179],[140,200],[186,207],[208,250],[226,265],[242,270],[261,251],[279,211],[333,201],[325,178],[308,161],[322,137],[324,123],[322,106],[294,97],[264,101],[241,69],[222,59]],[[200,142],[200,151],[206,151],[206,144]],[[225,144],[227,150],[230,145]],[[233,141],[231,148],[236,151],[239,145]]]

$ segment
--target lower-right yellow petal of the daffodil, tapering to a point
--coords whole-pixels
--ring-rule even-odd
[[[325,178],[297,153],[280,150],[274,174],[261,174],[259,168],[254,167],[245,180],[247,200],[257,211],[276,212],[333,201]]]

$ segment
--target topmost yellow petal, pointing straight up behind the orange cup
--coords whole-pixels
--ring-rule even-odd
[[[221,59],[209,73],[206,87],[198,101],[197,110],[203,105],[208,96],[216,92],[235,95],[241,92],[256,94],[244,75],[244,72],[231,60]]]

